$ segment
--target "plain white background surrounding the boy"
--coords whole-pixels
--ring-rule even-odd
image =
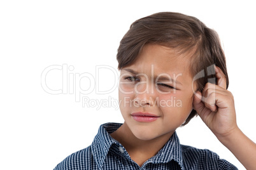
[[[89,73],[96,78],[96,65],[117,70],[118,44],[131,23],[160,11],[196,16],[217,30],[239,128],[256,141],[256,11],[252,1],[1,1],[0,169],[53,169],[68,155],[88,147],[100,124],[123,122],[118,109],[82,107],[72,91],[46,93],[41,74],[50,65],[64,64],[74,67],[68,70],[71,76]],[[102,91],[117,81],[110,70],[99,72],[98,79]],[[88,81],[82,79],[76,85]],[[62,88],[61,70],[48,72],[46,83],[52,89]],[[117,91],[97,95],[94,89],[81,96],[117,100]],[[199,117],[177,131],[182,144],[208,148],[244,169]]]

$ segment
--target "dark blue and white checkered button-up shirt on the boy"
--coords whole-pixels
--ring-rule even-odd
[[[237,169],[206,149],[180,145],[176,133],[152,158],[139,167],[125,148],[110,136],[122,124],[106,123],[89,147],[75,152],[64,159],[53,170],[82,169]]]

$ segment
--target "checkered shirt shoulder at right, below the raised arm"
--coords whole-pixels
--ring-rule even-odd
[[[187,145],[181,145],[183,163],[189,169],[237,169],[225,159],[220,159],[218,154],[208,149],[199,149]]]

